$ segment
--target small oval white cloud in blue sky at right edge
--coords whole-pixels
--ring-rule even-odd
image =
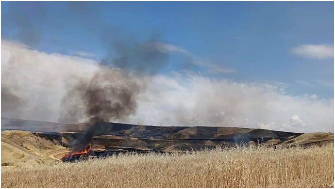
[[[334,58],[334,45],[300,45],[291,49],[293,54],[311,59]]]

